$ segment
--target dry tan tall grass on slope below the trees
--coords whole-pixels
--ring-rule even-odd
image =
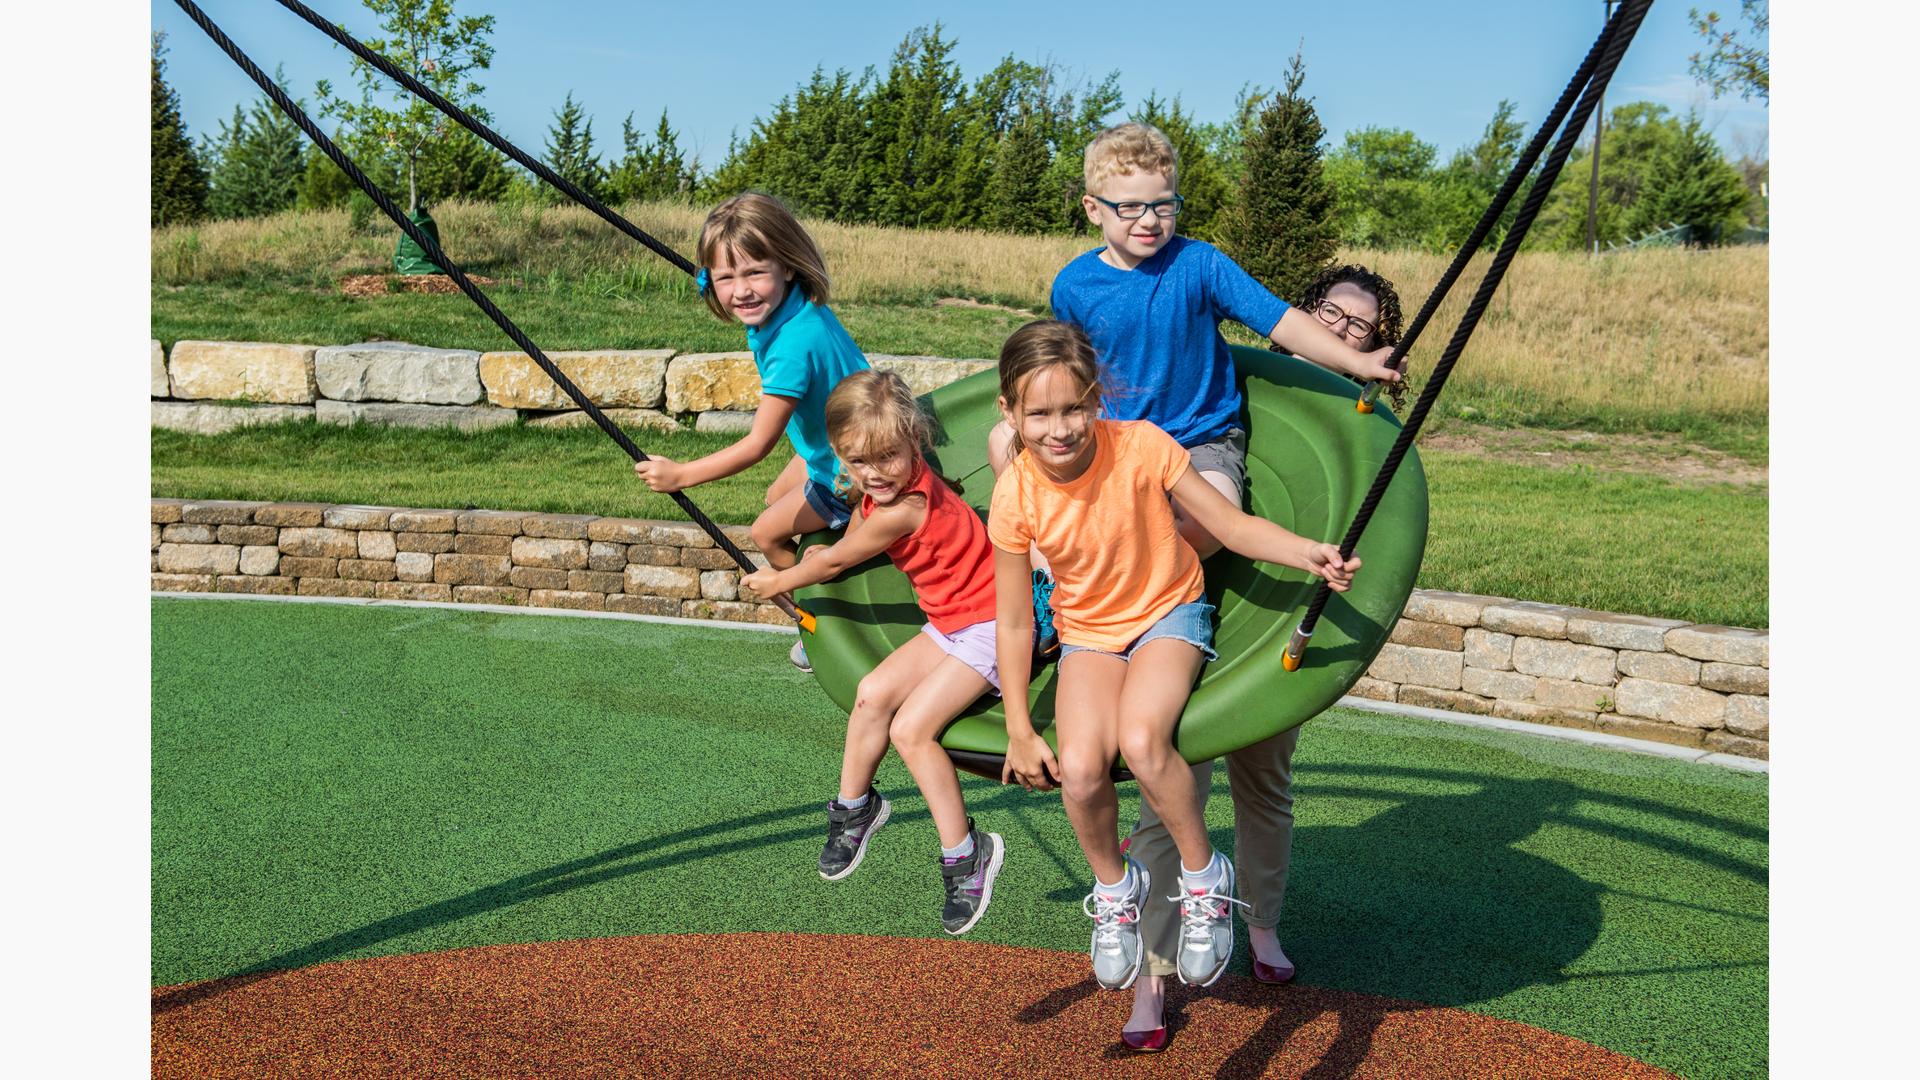
[[[522,281],[611,281],[682,286],[651,252],[580,208],[445,204],[447,250],[463,265]],[[628,219],[680,252],[693,250],[703,213],[634,204]],[[1000,233],[910,231],[808,223],[843,302],[966,296],[1046,309],[1054,273],[1094,240]],[[388,265],[394,233],[357,233],[346,211],[282,213],[159,229],[156,284],[253,277],[326,281]],[[1398,282],[1407,319],[1448,265],[1417,252],[1346,252]],[[1766,248],[1645,250],[1599,258],[1523,254],[1488,307],[1455,380],[1515,411],[1766,417]],[[1480,256],[1415,348],[1430,367],[1486,267]]]

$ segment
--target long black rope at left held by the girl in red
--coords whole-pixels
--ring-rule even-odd
[[[440,250],[440,244],[430,234],[426,234],[417,225],[413,225],[411,221],[407,221],[407,215],[399,211],[399,208],[394,204],[394,200],[390,200],[372,181],[369,181],[367,173],[361,173],[359,165],[355,165],[346,154],[342,154],[340,148],[334,146],[334,140],[328,138],[313,123],[313,119],[307,117],[307,113],[300,106],[296,106],[294,100],[288,98],[286,92],[280,90],[280,86],[276,86],[273,83],[273,79],[267,77],[265,71],[259,69],[257,63],[253,63],[252,60],[248,60],[248,56],[244,52],[240,52],[240,46],[236,46],[232,42],[232,38],[228,38],[227,33],[221,31],[213,23],[213,19],[209,19],[207,13],[200,10],[198,4],[194,4],[194,0],[175,0],[175,4],[182,12],[186,12],[186,17],[190,17],[194,21],[194,25],[198,25],[202,31],[205,31],[205,35],[209,38],[213,38],[213,44],[221,46],[221,52],[225,52],[234,63],[238,63],[240,69],[246,71],[246,75],[250,79],[253,79],[253,83],[259,85],[259,88],[269,98],[273,98],[273,104],[280,106],[280,111],[284,111],[296,125],[300,125],[300,131],[303,131],[307,135],[307,138],[311,138],[313,144],[319,146],[321,152],[326,154],[326,158],[332,160],[332,163],[338,165],[340,171],[346,173],[348,179],[351,179],[355,183],[355,186],[359,186],[363,192],[367,192],[367,198],[371,198],[374,202],[374,206],[378,206],[388,217],[394,219],[396,225],[399,225],[401,233],[405,233],[409,240],[413,240],[415,244],[419,244],[422,252],[426,252],[426,258],[432,259],[434,265],[438,265],[440,269],[444,269],[447,273],[447,277],[453,281],[453,284],[457,284],[459,290],[465,292],[468,300],[472,300],[482,311],[486,311],[488,319],[493,319],[493,325],[497,325],[509,338],[513,338],[513,344],[520,346],[520,352],[524,352],[526,356],[530,356],[534,359],[534,363],[538,363],[540,369],[547,373],[547,379],[553,379],[553,382],[561,388],[561,392],[564,392],[568,398],[572,398],[574,404],[578,404],[588,413],[588,417],[591,417],[593,423],[599,425],[601,430],[605,430],[614,442],[618,442],[620,450],[624,450],[628,457],[632,457],[634,461],[647,461],[647,452],[643,452],[639,446],[636,446],[634,440],[628,438],[628,434],[624,430],[620,430],[620,425],[616,425],[611,419],[607,419],[607,413],[603,413],[593,402],[589,402],[588,396],[582,394],[578,386],[574,386],[572,379],[568,379],[564,371],[561,371],[551,359],[547,359],[547,354],[540,352],[540,346],[536,346],[524,332],[520,332],[520,327],[513,325],[513,319],[509,319],[505,313],[501,313],[501,309],[495,307],[493,302],[488,300],[488,296],[484,292],[480,292],[480,286],[476,286],[461,271],[461,267],[455,265],[453,259],[449,259],[447,254]],[[468,125],[468,127],[472,127],[472,125]],[[493,136],[493,138],[497,140],[499,136]],[[518,152],[515,152],[515,154],[516,154],[516,160],[524,158]],[[540,171],[545,173],[545,175],[551,175],[551,169],[545,169],[543,165],[540,167]],[[559,177],[551,177],[551,179],[559,181]],[[572,184],[566,184],[564,181],[561,181],[561,184],[564,184],[563,190],[572,188]],[[576,192],[578,192],[578,188],[570,190],[568,194],[574,194],[574,198],[580,198],[580,194],[576,194]],[[601,213],[603,217],[612,215],[612,211],[609,211],[605,208],[601,208],[601,211],[603,211]],[[612,217],[618,217],[618,215],[612,215]],[[637,238],[643,238],[643,242],[647,242],[649,248],[655,248],[655,250],[662,252],[664,256],[672,258],[676,261],[676,265],[685,263],[685,259],[682,259],[680,256],[672,254],[670,248],[659,246],[659,240],[653,240],[651,236],[645,236],[643,233],[639,233],[639,229],[634,229],[632,225],[628,225],[622,231],[630,231]],[[699,525],[701,530],[707,532],[707,536],[712,538],[712,542],[722,552],[726,552],[728,557],[733,559],[733,563],[739,565],[741,571],[753,573],[753,571],[758,569],[753,563],[753,559],[749,559],[747,553],[741,552],[739,546],[733,544],[733,540],[728,538],[728,534],[722,532],[720,527],[714,525],[712,519],[707,517],[707,513],[701,511],[701,507],[695,505],[693,500],[687,498],[685,492],[670,492],[670,496],[680,505],[680,509],[695,525]],[[776,596],[772,600],[774,600],[774,603],[781,611],[785,611],[789,617],[793,617],[797,623],[801,623],[801,626],[812,630],[812,625],[814,625],[812,615],[801,611],[799,607],[795,607],[789,600],[785,600],[781,596]]]

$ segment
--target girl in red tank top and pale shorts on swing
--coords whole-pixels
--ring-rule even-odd
[[[860,680],[847,717],[839,798],[828,803],[820,876],[839,880],[858,869],[868,840],[887,821],[893,807],[874,790],[874,773],[891,742],[939,830],[941,924],[964,934],[993,899],[1006,844],[973,828],[939,736],[981,694],[1000,688],[993,542],[973,507],[927,467],[927,421],[899,375],[849,375],[828,396],[826,419],[828,440],[860,496],[847,534],[812,548],[799,565],[762,569],[739,584],[778,596],[831,580],[881,552],[912,582],[927,625]]]

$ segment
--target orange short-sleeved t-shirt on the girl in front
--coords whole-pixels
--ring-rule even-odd
[[[996,548],[1039,548],[1054,571],[1060,640],[1121,651],[1206,592],[1200,557],[1173,528],[1167,492],[1190,455],[1146,421],[1094,421],[1092,465],[1056,484],[1020,454],[993,488]]]

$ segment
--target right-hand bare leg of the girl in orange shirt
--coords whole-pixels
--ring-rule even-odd
[[[1173,749],[1173,724],[1187,709],[1202,663],[1200,650],[1188,642],[1152,640],[1127,663],[1119,696],[1119,753],[1179,847],[1183,871],[1204,869],[1213,859],[1192,767]]]

